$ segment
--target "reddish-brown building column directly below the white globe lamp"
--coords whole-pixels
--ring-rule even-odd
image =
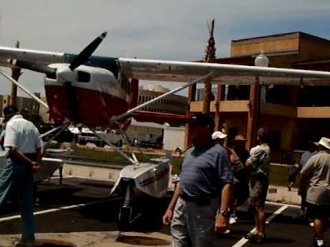
[[[246,148],[250,150],[256,145],[256,132],[259,125],[259,97],[260,97],[260,86],[259,78],[256,78],[256,83],[250,86],[250,102],[248,104],[248,126],[246,137],[248,141],[246,142]]]

